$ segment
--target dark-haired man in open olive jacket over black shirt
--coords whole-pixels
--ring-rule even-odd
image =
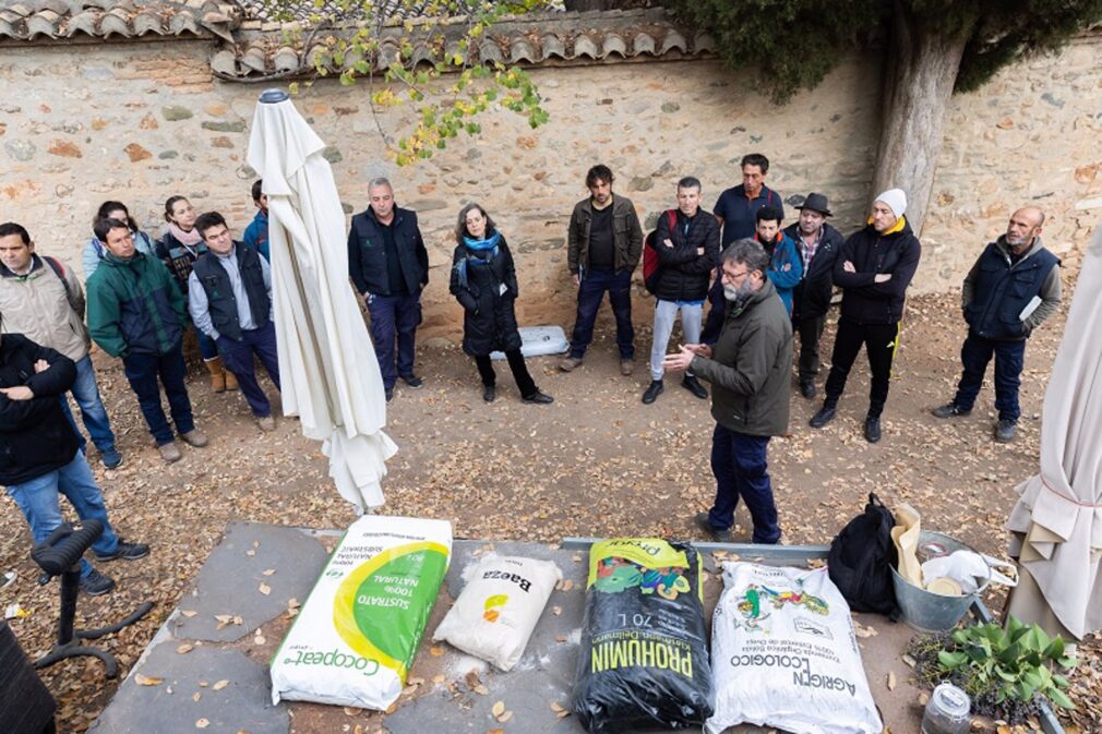
[[[564,373],[582,364],[593,341],[593,323],[608,293],[616,317],[620,374],[635,367],[635,327],[631,325],[631,273],[642,255],[642,227],[635,205],[613,194],[612,170],[594,165],[585,174],[590,196],[574,205],[566,230],[566,261],[577,285],[577,319],[570,354],[559,363]]]

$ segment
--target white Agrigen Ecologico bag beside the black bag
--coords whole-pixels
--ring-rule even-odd
[[[825,568],[725,563],[712,617],[715,715],[792,734],[880,734],[850,607]]]

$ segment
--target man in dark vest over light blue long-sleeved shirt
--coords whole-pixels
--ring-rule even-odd
[[[187,309],[195,327],[214,339],[226,369],[262,431],[276,429],[268,396],[257,382],[253,355],[279,389],[279,357],[272,321],[272,280],[268,261],[244,242],[235,242],[226,219],[207,212],[195,220],[208,252],[192,267]]]

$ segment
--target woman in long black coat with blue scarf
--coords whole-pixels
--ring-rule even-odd
[[[517,330],[517,270],[505,237],[478,204],[460,209],[455,225],[450,291],[463,306],[463,350],[475,358],[483,381],[483,400],[497,397],[490,352],[504,352],[525,402],[553,402],[540,392],[520,353]]]

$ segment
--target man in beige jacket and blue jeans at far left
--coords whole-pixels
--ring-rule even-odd
[[[99,397],[96,370],[88,356],[91,341],[84,325],[84,288],[72,268],[34,252],[26,229],[0,225],[0,313],[9,331],[65,355],[76,363],[71,391],[99,460],[107,468],[122,463],[107,409]],[[63,401],[64,402],[64,401]],[[64,402],[68,409],[68,403]]]

